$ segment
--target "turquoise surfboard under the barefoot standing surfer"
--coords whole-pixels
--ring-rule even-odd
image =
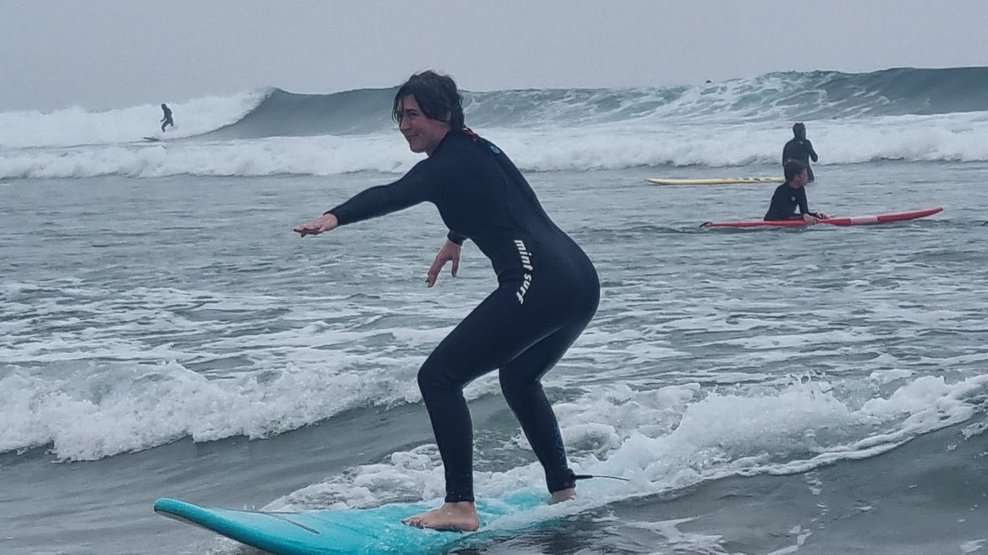
[[[439,531],[401,523],[405,516],[437,507],[425,503],[280,513],[206,508],[161,498],[154,504],[154,511],[276,555],[375,555],[441,553],[471,541],[515,533],[537,524],[535,515],[526,518],[524,514],[546,503],[545,494],[535,490],[477,500],[480,528],[475,532]],[[513,515],[519,517],[512,518]]]

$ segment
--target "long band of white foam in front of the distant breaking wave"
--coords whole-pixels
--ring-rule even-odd
[[[988,160],[988,113],[828,120],[811,128],[820,164]],[[536,172],[778,164],[782,143],[789,138],[786,130],[764,122],[625,122],[478,131],[497,142],[522,170]],[[8,148],[0,150],[0,179],[401,173],[420,159],[408,151],[397,131],[346,137],[186,139]],[[662,170],[663,174],[668,172]]]

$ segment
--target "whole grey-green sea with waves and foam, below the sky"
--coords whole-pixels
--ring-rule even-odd
[[[770,74],[467,95],[597,265],[600,310],[545,377],[581,482],[485,553],[988,550],[988,69]],[[980,85],[979,85],[980,84]],[[418,159],[393,91],[252,91],[0,114],[0,552],[252,553],[162,518],[438,500],[415,383],[495,285],[469,243],[426,271],[432,205],[290,229]],[[171,103],[170,103],[171,105]],[[881,226],[760,217],[793,120],[811,209],[944,206]],[[493,376],[466,390],[476,489],[542,487]],[[552,515],[558,515],[553,512]]]

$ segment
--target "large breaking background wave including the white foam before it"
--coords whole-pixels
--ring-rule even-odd
[[[646,89],[466,93],[467,121],[523,171],[772,163],[793,120],[822,164],[988,160],[988,68],[772,73]],[[970,87],[970,94],[952,87]],[[0,179],[400,173],[417,160],[390,120],[394,89],[281,89],[172,104],[0,114]],[[145,136],[163,139],[148,142]]]

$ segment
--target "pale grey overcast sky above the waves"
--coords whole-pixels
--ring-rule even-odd
[[[988,0],[0,0],[0,112],[988,65]]]

